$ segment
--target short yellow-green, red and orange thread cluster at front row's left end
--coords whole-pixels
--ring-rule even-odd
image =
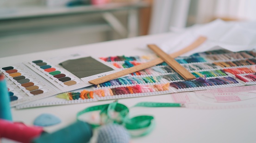
[[[56,97],[67,99],[67,100],[78,100],[79,98],[91,99],[91,98],[94,98],[94,92],[87,91],[87,90],[83,90],[81,92],[66,92],[66,93],[58,94]]]

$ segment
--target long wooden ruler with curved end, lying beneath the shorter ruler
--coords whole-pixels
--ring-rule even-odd
[[[184,49],[181,49],[180,51],[172,53],[169,56],[171,56],[173,58],[178,57],[178,56],[186,53],[187,51],[191,51],[191,50],[195,49],[196,47],[200,46],[202,43],[205,42],[205,40],[206,40],[206,37],[200,36],[197,40],[195,40],[189,46],[185,47]],[[116,72],[116,73],[113,73],[113,74],[109,74],[109,75],[100,77],[100,78],[95,79],[95,80],[90,80],[88,82],[91,83],[91,84],[94,84],[94,85],[98,85],[100,83],[103,83],[103,82],[106,82],[106,81],[109,81],[109,80],[113,80],[113,79],[125,76],[127,74],[137,72],[137,71],[142,70],[142,69],[150,68],[150,67],[155,66],[157,64],[160,64],[162,62],[163,62],[163,60],[161,58],[156,58],[156,59],[154,59],[150,62],[142,63],[142,64],[139,64],[137,66],[134,66],[134,67],[131,67],[131,68],[128,68],[128,69],[125,69],[125,70],[122,70],[122,71],[119,71],[119,72]]]

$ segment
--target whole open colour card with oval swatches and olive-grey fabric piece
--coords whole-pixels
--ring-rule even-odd
[[[100,68],[99,68],[100,67]],[[69,92],[86,86],[87,81],[115,72],[112,65],[86,54],[35,59],[0,68],[6,75],[11,106]]]

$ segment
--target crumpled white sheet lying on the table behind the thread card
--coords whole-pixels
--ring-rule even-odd
[[[256,48],[256,22],[225,22],[220,19],[203,25],[194,25],[177,33],[175,38],[158,41],[156,45],[163,51],[172,53],[190,45],[200,35],[207,37],[206,42],[182,56],[208,51],[216,46],[230,51]]]

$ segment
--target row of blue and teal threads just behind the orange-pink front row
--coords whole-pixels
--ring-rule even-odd
[[[122,77],[114,80],[109,80],[94,87],[108,87],[108,86],[121,86],[131,84],[145,84],[145,83],[156,83],[160,82],[162,76],[146,76],[146,77]]]

